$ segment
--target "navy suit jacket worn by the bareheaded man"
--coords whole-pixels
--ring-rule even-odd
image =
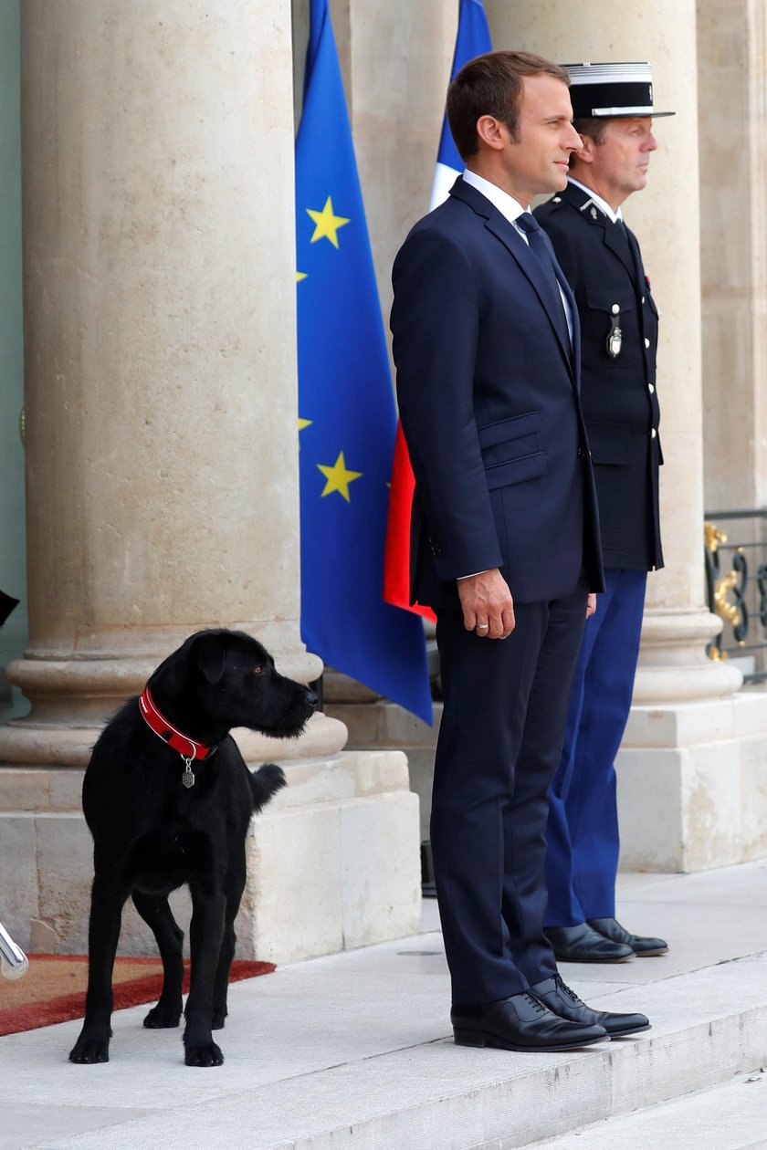
[[[499,567],[516,603],[603,589],[574,346],[535,253],[459,178],[393,268],[402,429],[415,474],[412,592],[458,604],[455,580]],[[552,328],[555,338],[552,337]]]

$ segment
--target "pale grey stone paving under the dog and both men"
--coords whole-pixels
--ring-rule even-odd
[[[0,1150],[676,1150],[691,1132],[697,1150],[766,1145],[767,861],[624,875],[619,917],[670,953],[562,973],[586,1000],[649,1013],[646,1036],[457,1048],[427,902],[415,937],[233,984],[222,1067],[185,1067],[181,1032],[145,1030],[146,1007],[115,1015],[107,1065],[67,1061],[79,1022],[0,1038]]]

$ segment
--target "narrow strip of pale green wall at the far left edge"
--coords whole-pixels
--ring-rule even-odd
[[[0,589],[21,599],[0,629],[0,667],[26,643],[23,383],[18,0],[0,0]]]

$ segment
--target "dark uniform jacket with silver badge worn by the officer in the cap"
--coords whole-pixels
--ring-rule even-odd
[[[581,404],[605,566],[662,567],[658,309],[639,246],[628,228],[613,223],[575,184],[568,183],[535,216],[552,241],[581,317]],[[616,354],[611,355],[608,345]]]

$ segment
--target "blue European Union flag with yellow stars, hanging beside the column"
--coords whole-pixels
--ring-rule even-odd
[[[328,0],[312,0],[296,220],[301,637],[431,722],[423,627],[382,598],[397,416]]]

